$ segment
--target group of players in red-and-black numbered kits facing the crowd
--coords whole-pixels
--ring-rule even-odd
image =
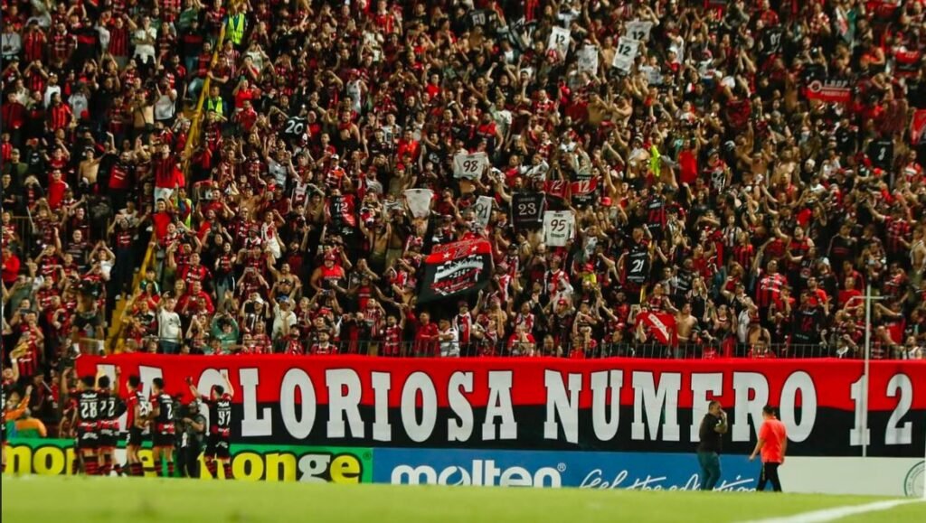
[[[132,375],[125,380],[125,394],[119,393],[120,371],[116,380],[103,373],[83,376],[73,389],[63,387],[64,417],[61,433],[74,435],[75,459],[71,473],[87,476],[144,476],[154,471],[158,477],[174,476],[174,446],[177,442],[179,397],[166,392],[164,380],[151,380],[151,394],[145,397],[142,380]],[[215,385],[208,396],[200,395],[193,380],[186,379],[194,402],[208,407],[208,438],[206,440],[206,469],[213,478],[219,478],[219,463],[225,479],[232,479],[230,436],[232,429],[232,398],[234,390],[226,378],[225,386]],[[4,394],[4,422],[6,414],[20,408],[16,398]],[[27,391],[23,396],[29,398]],[[9,400],[9,401],[6,401]],[[115,451],[119,442],[119,419],[125,414],[126,463],[116,463]],[[6,423],[3,443],[6,444]],[[146,436],[151,437],[152,461],[144,467],[140,451]],[[3,463],[6,470],[6,449]]]

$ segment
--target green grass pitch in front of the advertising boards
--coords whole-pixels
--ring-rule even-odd
[[[880,498],[758,492],[634,492],[329,485],[192,479],[3,478],[4,523],[344,521],[744,521]],[[926,503],[841,519],[926,521]]]

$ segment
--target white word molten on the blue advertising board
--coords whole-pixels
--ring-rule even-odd
[[[558,467],[565,466],[560,464]],[[561,487],[562,477],[554,467],[540,467],[531,473],[524,467],[495,467],[493,459],[474,459],[469,468],[450,466],[441,471],[426,465],[393,468],[390,481],[394,485],[472,485],[498,487]]]

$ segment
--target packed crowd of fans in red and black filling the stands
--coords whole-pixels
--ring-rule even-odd
[[[871,355],[926,355],[920,2],[2,6],[4,380],[33,416],[107,329],[860,357],[870,289]],[[480,240],[481,290],[419,304],[432,249]]]

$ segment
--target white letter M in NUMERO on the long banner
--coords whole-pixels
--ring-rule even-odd
[[[649,436],[659,440],[659,420],[662,419],[662,441],[679,441],[679,392],[682,392],[682,374],[663,372],[659,375],[659,387],[654,383],[652,372],[634,371],[633,383],[633,423],[631,438],[644,440],[646,425]],[[644,417],[648,423],[644,424]]]

